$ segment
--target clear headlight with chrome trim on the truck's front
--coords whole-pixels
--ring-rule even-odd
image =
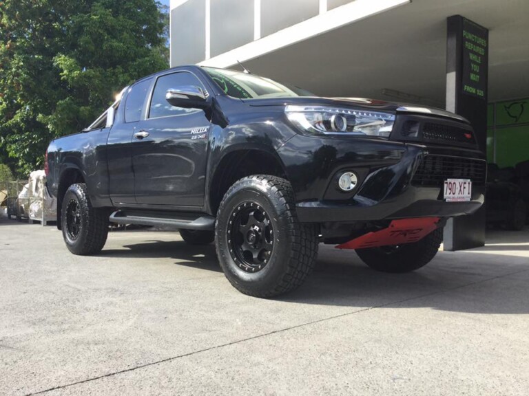
[[[383,111],[294,105],[288,105],[284,111],[300,131],[313,135],[389,137],[395,122],[395,114]]]

